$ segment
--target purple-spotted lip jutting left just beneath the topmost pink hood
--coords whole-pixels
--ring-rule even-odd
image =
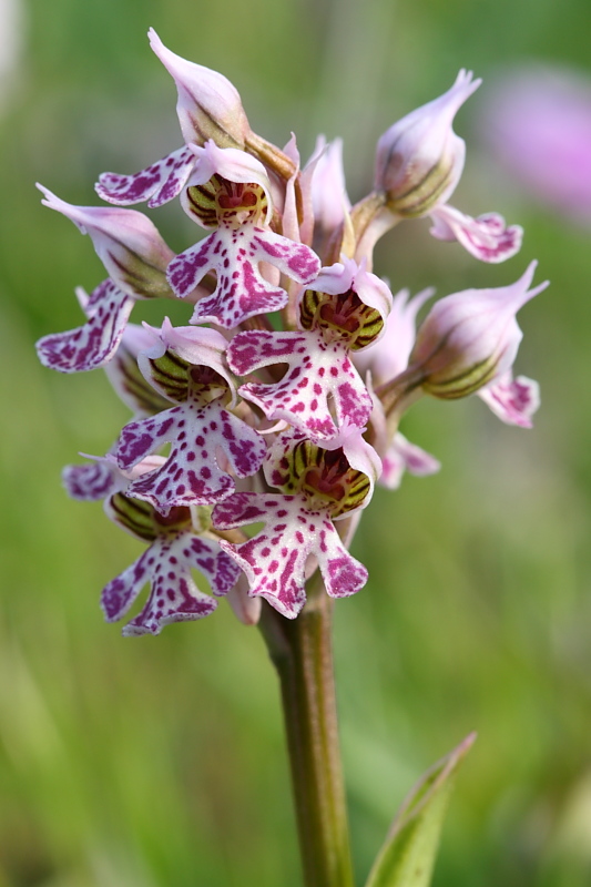
[[[190,147],[180,147],[133,175],[102,173],[94,190],[103,201],[119,206],[143,201],[147,201],[152,207],[162,206],[181,193],[195,162],[196,157]]]

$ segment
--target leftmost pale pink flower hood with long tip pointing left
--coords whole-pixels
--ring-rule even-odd
[[[135,210],[110,206],[74,206],[38,184],[41,203],[57,210],[82,234],[89,234],[111,279],[133,298],[172,296],[165,271],[174,256],[153,222]]]

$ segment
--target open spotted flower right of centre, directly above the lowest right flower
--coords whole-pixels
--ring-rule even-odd
[[[364,427],[371,398],[349,356],[381,334],[391,306],[386,284],[353,259],[324,268],[304,293],[302,332],[249,330],[232,340],[231,369],[246,376],[287,365],[279,381],[252,381],[240,394],[267,419],[285,419],[314,440],[330,440],[349,421]]]

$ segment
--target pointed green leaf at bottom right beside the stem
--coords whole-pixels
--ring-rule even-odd
[[[398,812],[366,887],[428,887],[458,765],[476,733],[421,776]]]

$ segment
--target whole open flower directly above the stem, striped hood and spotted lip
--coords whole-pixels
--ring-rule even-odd
[[[339,441],[347,455],[345,446],[330,451],[300,435],[281,436],[267,456],[265,477],[282,495],[237,492],[212,513],[218,530],[264,521],[265,528],[246,542],[222,540],[220,546],[245,572],[249,594],[265,598],[288,619],[306,602],[309,558],[317,560],[333,598],[354,594],[367,581],[367,570],[349,554],[333,523],[369,502],[379,462],[365,441],[359,443],[358,429],[351,430],[355,437],[344,434]]]

